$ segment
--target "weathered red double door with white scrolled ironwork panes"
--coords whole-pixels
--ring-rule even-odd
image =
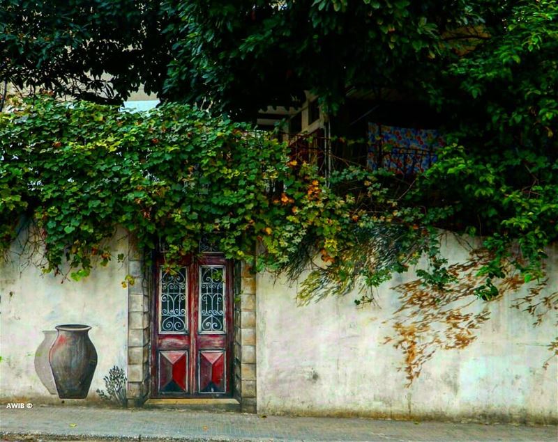
[[[156,271],[151,345],[152,397],[230,396],[232,266],[220,255]]]

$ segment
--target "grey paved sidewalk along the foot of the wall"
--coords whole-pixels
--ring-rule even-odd
[[[0,439],[186,441],[552,441],[557,427],[292,418],[204,411],[33,407],[0,409]],[[24,436],[28,436],[27,438]],[[31,436],[31,437],[29,437]]]

